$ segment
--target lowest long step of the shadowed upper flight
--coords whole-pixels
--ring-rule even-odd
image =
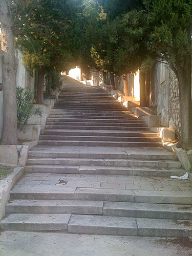
[[[52,146],[115,146],[115,147],[158,147],[161,142],[114,142],[114,141],[70,141],[70,140],[39,140],[39,145]]]

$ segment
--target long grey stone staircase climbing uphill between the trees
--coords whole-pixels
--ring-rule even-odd
[[[5,230],[192,236],[192,187],[157,134],[105,94],[68,78],[26,175],[10,193]]]

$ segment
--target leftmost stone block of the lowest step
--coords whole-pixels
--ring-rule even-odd
[[[10,214],[0,222],[3,230],[58,231],[67,230],[70,214]]]

